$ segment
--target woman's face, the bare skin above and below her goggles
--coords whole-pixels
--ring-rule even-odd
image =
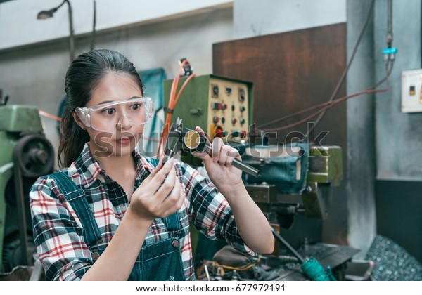
[[[142,95],[138,84],[129,74],[110,72],[92,90],[91,100],[86,106],[92,107],[103,103],[129,100],[142,97]],[[118,105],[117,109],[119,107],[124,110],[124,105]],[[90,148],[94,156],[125,157],[132,154],[143,132],[143,125],[132,124],[126,116],[121,117],[120,123],[110,131],[96,131],[82,124],[89,133]]]

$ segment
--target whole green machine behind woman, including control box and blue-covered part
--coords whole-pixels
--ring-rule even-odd
[[[180,84],[184,81],[186,77],[180,79]],[[243,164],[259,171],[259,175],[243,173],[243,181],[274,229],[275,237],[280,237],[276,239],[273,254],[260,257],[260,261],[250,261],[249,265],[241,258],[243,265],[236,268],[238,261],[235,265],[222,265],[219,254],[224,244],[201,240],[199,235],[198,244],[193,241],[197,249],[194,255],[200,256],[203,263],[202,268],[197,269],[198,279],[313,280],[314,277],[301,269],[305,258],[312,258],[331,274],[327,277],[344,280],[347,262],[359,249],[321,242],[321,224],[328,215],[331,189],[343,178],[341,147],[307,142],[267,145],[264,138],[257,145],[257,138],[251,140],[254,132],[250,130],[252,82],[210,74],[193,77],[177,89],[183,89],[183,93],[174,110],[170,110],[172,123],[176,124],[177,118],[181,118],[184,127],[200,126],[210,140],[221,137],[239,150]],[[171,91],[172,80],[167,80],[165,105]],[[200,166],[200,161],[193,156],[184,152],[181,156],[184,162]],[[305,224],[303,228],[309,230],[292,232],[293,225],[298,223]],[[236,255],[223,256],[233,262]],[[196,258],[196,263],[200,261]]]

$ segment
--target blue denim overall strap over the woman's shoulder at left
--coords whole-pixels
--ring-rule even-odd
[[[85,192],[79,188],[67,173],[56,172],[49,175],[56,181],[58,188],[63,192],[63,195],[72,206],[75,214],[82,223],[85,240],[90,246],[97,240],[101,239],[101,232],[95,221],[94,214],[92,214],[91,207],[87,199],[84,197]]]

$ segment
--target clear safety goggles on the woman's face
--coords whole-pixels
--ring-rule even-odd
[[[143,125],[153,117],[151,98],[131,98],[92,107],[75,107],[82,123],[96,131],[112,131],[121,126],[124,117],[133,125]]]

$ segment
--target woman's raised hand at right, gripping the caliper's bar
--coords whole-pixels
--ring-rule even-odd
[[[197,126],[196,131],[207,138],[200,127]],[[241,156],[234,147],[224,145],[221,138],[212,140],[211,156],[206,152],[193,152],[193,155],[203,160],[208,176],[219,190],[231,190],[243,185],[241,169],[231,165],[234,159],[240,160]]]

